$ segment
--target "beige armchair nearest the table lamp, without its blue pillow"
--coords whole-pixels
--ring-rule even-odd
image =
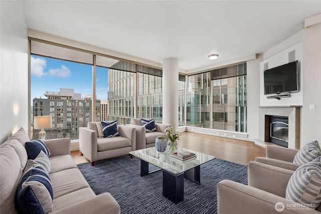
[[[98,122],[99,123],[99,122]],[[95,161],[121,155],[129,155],[136,150],[136,130],[118,125],[119,137],[98,137],[97,122],[88,122],[88,127],[79,128],[80,155],[87,157],[91,165]]]

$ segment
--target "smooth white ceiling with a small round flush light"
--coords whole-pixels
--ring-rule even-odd
[[[319,1],[25,1],[29,29],[195,71],[263,53]],[[215,61],[208,55],[219,54]]]

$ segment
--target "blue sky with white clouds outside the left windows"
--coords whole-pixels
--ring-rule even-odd
[[[96,68],[98,99],[107,99],[107,77],[106,68]],[[31,101],[35,97],[46,98],[47,91],[58,92],[60,88],[74,89],[74,93],[80,93],[82,97],[91,95],[92,66],[32,55]]]

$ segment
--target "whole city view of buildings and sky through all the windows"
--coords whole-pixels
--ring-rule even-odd
[[[51,115],[48,138],[78,139],[79,127],[93,120],[162,121],[161,70],[122,61],[96,66],[95,99],[92,72],[92,65],[31,56],[31,121]],[[180,77],[179,125],[246,132],[246,94],[246,64]]]

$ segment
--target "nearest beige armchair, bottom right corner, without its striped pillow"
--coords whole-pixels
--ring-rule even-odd
[[[217,184],[217,213],[320,213],[321,205],[315,210],[285,198],[287,183],[294,171],[260,162],[248,164],[248,185],[232,180]],[[277,211],[283,203],[284,210]]]

